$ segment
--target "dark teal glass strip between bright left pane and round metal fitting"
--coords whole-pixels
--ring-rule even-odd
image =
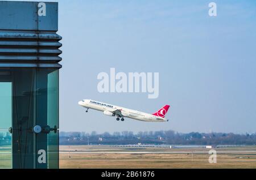
[[[38,71],[36,68],[10,70],[13,82],[13,168],[36,168],[38,137],[32,132],[32,127],[38,120]]]

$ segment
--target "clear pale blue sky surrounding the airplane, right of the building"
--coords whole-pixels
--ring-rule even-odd
[[[255,1],[59,1],[60,130],[255,132],[255,8]],[[111,67],[159,72],[159,98],[99,93],[97,75]],[[77,105],[84,98],[148,113],[170,104],[170,121],[117,122],[85,113]]]

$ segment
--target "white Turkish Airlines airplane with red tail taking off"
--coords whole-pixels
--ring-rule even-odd
[[[89,109],[94,109],[103,112],[105,115],[117,117],[117,121],[125,121],[125,118],[136,119],[139,121],[146,122],[167,122],[168,119],[165,118],[170,105],[165,105],[163,108],[159,109],[154,114],[148,114],[143,112],[138,112],[137,110],[122,108],[119,106],[106,104],[104,102],[94,101],[94,100],[82,100],[78,103],[80,106],[86,108],[86,113]]]

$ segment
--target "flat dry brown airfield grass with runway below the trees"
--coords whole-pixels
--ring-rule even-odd
[[[208,151],[61,145],[60,168],[256,168],[255,146],[217,148],[216,164],[209,163]]]

